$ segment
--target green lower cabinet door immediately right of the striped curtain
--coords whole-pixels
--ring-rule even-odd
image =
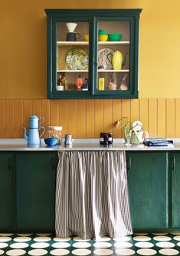
[[[168,153],[129,152],[127,161],[133,228],[168,228]]]

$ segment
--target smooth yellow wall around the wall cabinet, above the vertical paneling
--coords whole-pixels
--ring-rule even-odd
[[[143,8],[139,98],[180,98],[179,0],[7,0],[0,8],[0,98],[46,98],[44,8]]]

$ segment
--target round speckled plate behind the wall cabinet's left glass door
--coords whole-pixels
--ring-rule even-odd
[[[88,55],[83,49],[72,48],[66,55],[66,65],[70,70],[86,69],[88,65]]]

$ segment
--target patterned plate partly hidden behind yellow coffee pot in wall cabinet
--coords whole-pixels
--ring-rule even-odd
[[[113,65],[110,62],[112,60],[112,55],[113,55],[113,50],[110,48],[102,48],[98,51],[98,66],[103,66],[102,69],[113,69]],[[107,58],[108,54],[112,54],[109,55],[110,60]]]

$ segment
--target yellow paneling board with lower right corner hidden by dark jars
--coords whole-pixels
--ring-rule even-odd
[[[94,100],[94,137],[100,138],[103,132],[103,100]]]

